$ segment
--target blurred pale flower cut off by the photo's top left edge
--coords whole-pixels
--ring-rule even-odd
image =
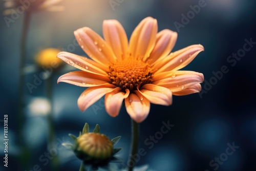
[[[62,11],[63,6],[56,5],[62,0],[4,0],[6,10],[4,15],[23,13],[24,11],[34,12],[40,10]]]

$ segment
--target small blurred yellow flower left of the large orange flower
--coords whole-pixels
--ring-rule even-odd
[[[36,55],[35,61],[39,67],[57,68],[62,64],[62,60],[56,57],[59,52],[55,48],[43,49]]]

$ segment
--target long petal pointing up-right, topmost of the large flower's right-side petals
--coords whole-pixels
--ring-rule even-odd
[[[163,60],[156,63],[154,66],[156,73],[164,71],[176,71],[188,65],[201,51],[204,50],[202,45],[191,45],[179,51],[170,53]]]

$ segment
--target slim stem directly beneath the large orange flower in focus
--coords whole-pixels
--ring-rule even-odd
[[[128,170],[132,171],[136,162],[133,159],[133,156],[137,154],[139,146],[139,124],[132,120],[132,144],[131,144],[131,152],[130,159],[128,162]]]

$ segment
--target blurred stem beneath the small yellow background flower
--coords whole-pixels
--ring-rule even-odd
[[[52,100],[52,78],[46,79],[46,97],[49,100],[51,104],[51,109],[50,112],[47,115],[47,120],[49,124],[49,133],[48,133],[48,144],[49,144],[49,149],[55,148],[55,129],[54,129],[54,118],[53,118],[53,100]],[[58,170],[58,158],[57,156],[53,156],[52,159],[52,170],[57,171]]]

